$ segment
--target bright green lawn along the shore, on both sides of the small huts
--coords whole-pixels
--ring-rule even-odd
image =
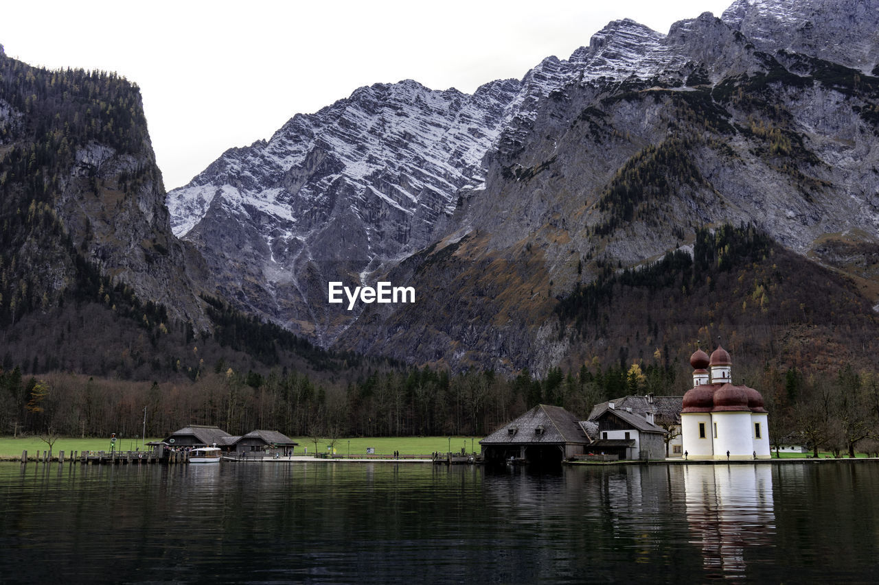
[[[147,442],[161,441],[162,438],[147,437]],[[336,453],[347,455],[350,452],[361,455],[366,454],[367,447],[374,447],[376,455],[390,455],[394,451],[400,451],[402,455],[429,455],[434,451],[445,453],[449,451],[450,446],[452,451],[460,452],[461,448],[466,447],[467,452],[473,450],[478,452],[481,438],[483,437],[451,437],[451,439],[449,437],[352,437],[338,439]],[[309,437],[297,437],[294,441],[299,444],[296,453],[301,453],[306,447],[309,453],[315,452],[315,444]],[[318,451],[325,453],[328,444],[330,444],[328,439],[321,439],[317,444]],[[122,438],[116,443],[117,451],[134,451],[139,446],[141,446],[139,439]],[[27,451],[28,457],[34,457],[37,451],[48,451],[48,448],[40,437],[0,437],[0,459],[18,459],[21,457],[21,451]],[[143,451],[142,448],[141,450]],[[57,456],[59,451],[64,451],[65,455],[73,451],[110,451],[110,438],[62,437],[52,446],[54,456]]]

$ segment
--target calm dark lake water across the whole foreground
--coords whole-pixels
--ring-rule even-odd
[[[0,582],[879,581],[879,463],[0,464]]]

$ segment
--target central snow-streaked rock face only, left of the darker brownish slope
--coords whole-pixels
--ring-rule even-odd
[[[468,96],[376,84],[296,115],[171,191],[174,232],[239,307],[329,342],[352,313],[329,310],[327,282],[360,283],[431,242],[457,193],[483,182],[482,156],[519,86]]]

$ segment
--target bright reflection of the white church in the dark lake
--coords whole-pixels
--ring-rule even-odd
[[[745,576],[745,551],[772,545],[772,467],[685,466],[686,524],[709,574]]]

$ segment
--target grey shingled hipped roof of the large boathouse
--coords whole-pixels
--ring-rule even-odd
[[[589,444],[577,416],[562,407],[538,404],[495,430],[480,444]]]

